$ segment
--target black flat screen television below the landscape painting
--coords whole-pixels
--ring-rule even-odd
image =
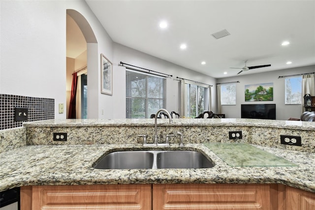
[[[276,119],[276,104],[241,105],[241,118]]]

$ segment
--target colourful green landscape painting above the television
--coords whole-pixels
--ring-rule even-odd
[[[273,101],[273,82],[245,85],[246,102]]]

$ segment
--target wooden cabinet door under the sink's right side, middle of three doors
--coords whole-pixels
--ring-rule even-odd
[[[269,184],[154,184],[153,210],[277,210],[277,194],[271,195],[276,188]]]

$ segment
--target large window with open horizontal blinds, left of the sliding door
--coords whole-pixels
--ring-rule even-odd
[[[166,79],[126,70],[126,118],[150,118],[165,108]]]

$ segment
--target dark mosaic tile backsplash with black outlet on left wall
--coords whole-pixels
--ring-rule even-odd
[[[28,120],[14,120],[15,107],[29,108]],[[55,99],[0,94],[0,130],[21,127],[23,122],[55,118]]]

